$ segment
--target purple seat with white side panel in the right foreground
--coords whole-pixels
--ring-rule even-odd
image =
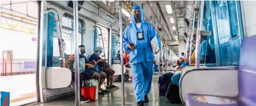
[[[256,35],[242,41],[240,63],[230,69],[193,69],[180,79],[186,106],[256,105]]]

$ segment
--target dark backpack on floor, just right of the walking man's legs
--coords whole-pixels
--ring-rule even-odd
[[[174,75],[174,73],[165,73],[162,76],[159,76],[159,95],[165,96],[169,83],[171,82],[171,77]]]

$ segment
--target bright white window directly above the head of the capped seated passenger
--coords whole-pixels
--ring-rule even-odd
[[[104,53],[105,53],[105,59],[108,59],[109,56],[108,56],[108,51],[109,51],[109,29],[106,28],[106,27],[103,27],[101,25],[98,25],[101,30],[102,30],[102,36],[103,36],[103,42],[104,42],[104,47],[103,47],[103,42],[102,42],[102,36],[100,35],[101,34],[101,31],[99,28],[97,28],[97,47],[100,46],[102,48],[104,48]],[[101,54],[101,56],[104,55],[104,53]],[[104,57],[103,57],[104,59]]]

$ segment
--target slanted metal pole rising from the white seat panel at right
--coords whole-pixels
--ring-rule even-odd
[[[197,28],[196,32],[196,52],[195,52],[195,69],[199,69],[200,65],[200,41],[201,41],[201,30],[202,30],[202,23],[203,23],[203,11],[204,11],[204,1],[201,1],[200,5],[200,17],[199,17],[199,28]]]

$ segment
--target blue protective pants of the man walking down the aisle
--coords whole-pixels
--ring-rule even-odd
[[[145,101],[144,96],[150,93],[153,75],[153,62],[141,62],[130,65],[133,73],[133,85],[136,101]]]

